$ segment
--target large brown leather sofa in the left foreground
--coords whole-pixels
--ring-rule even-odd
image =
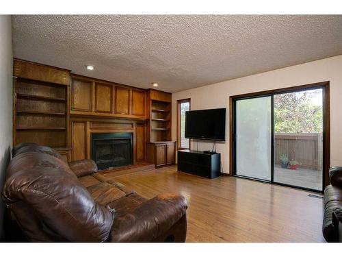
[[[2,195],[14,241],[185,241],[187,204],[181,195],[145,199],[98,174],[92,160],[66,162],[34,143],[17,145],[12,156]]]

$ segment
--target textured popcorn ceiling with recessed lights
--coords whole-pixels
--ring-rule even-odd
[[[13,18],[14,56],[177,92],[342,54],[342,16],[111,15]],[[95,66],[87,71],[85,64]]]

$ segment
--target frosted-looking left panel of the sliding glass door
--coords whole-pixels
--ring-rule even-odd
[[[236,174],[271,180],[271,97],[239,99],[236,110]]]

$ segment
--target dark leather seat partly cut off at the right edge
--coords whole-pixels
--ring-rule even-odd
[[[342,167],[329,169],[330,185],[324,190],[323,235],[327,242],[342,241]]]

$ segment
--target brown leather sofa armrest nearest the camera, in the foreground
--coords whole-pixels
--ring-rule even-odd
[[[185,216],[187,202],[178,194],[164,193],[144,201],[126,215],[116,217],[111,242],[150,242]]]

